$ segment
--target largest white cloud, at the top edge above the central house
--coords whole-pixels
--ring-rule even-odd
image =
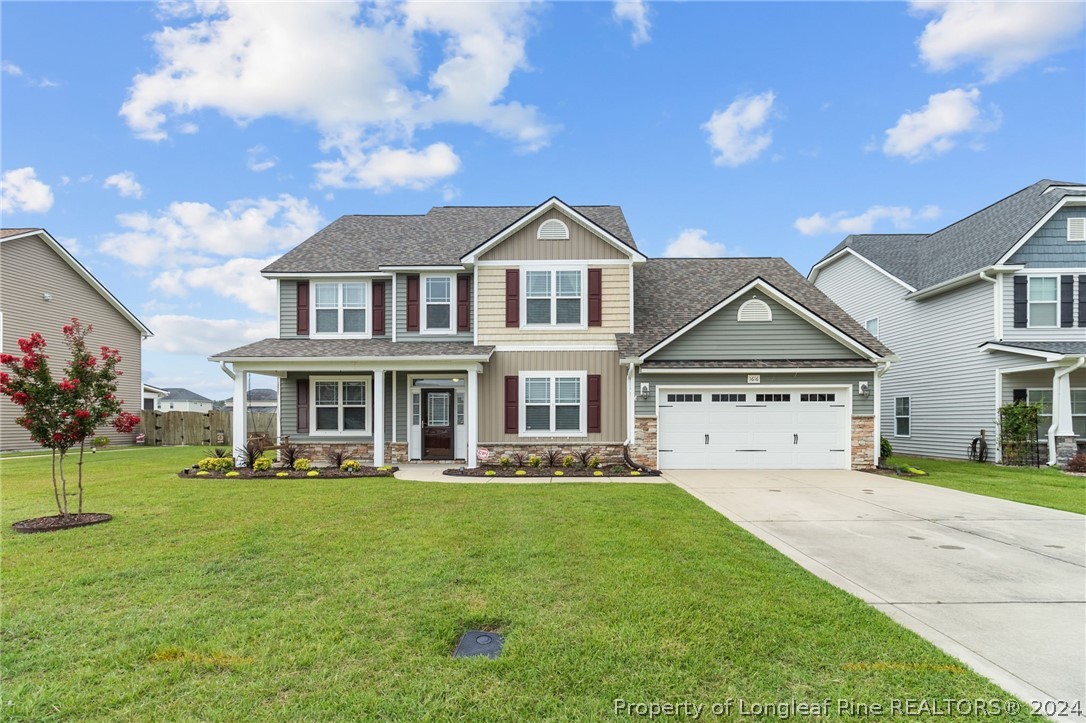
[[[172,116],[203,109],[239,124],[310,123],[321,150],[340,156],[317,164],[320,179],[422,188],[459,164],[444,143],[416,150],[418,129],[470,124],[522,150],[547,143],[554,129],[536,109],[503,98],[527,66],[533,12],[522,3],[194,3],[154,34],[159,65],[132,79],[121,115],[149,140],[167,137]],[[442,60],[428,68],[435,40]],[[384,173],[394,152],[401,169]]]

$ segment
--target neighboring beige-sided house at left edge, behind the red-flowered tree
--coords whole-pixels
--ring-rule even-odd
[[[93,326],[91,348],[102,345],[121,351],[118,396],[125,410],[139,414],[140,344],[151,337],[124,304],[87,270],[64,246],[40,228],[0,229],[0,346],[18,353],[17,340],[34,331],[49,344],[54,373],[63,371],[64,335],[61,329],[72,317]],[[0,449],[36,448],[26,430],[15,423],[20,407],[0,398]],[[129,444],[137,431],[121,434],[112,427],[101,434],[115,443]]]

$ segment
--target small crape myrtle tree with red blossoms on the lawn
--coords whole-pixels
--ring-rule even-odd
[[[22,356],[0,354],[0,394],[22,407],[15,420],[30,437],[52,451],[53,497],[56,510],[67,517],[67,479],[64,458],[76,447],[79,449],[77,486],[77,513],[83,512],[83,458],[87,439],[94,430],[112,423],[118,432],[130,432],[139,417],[124,411],[124,401],[118,399],[117,380],[124,372],[117,369],[121,353],[102,346],[98,355],[87,351],[87,335],[93,327],[83,326],[73,318],[65,325],[64,343],[70,359],[64,378],[58,381],[49,368],[46,340],[38,332],[29,339],[20,339]]]

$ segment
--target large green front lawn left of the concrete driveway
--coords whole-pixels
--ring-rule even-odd
[[[9,525],[51,512],[48,464],[2,462],[4,720],[1006,697],[671,485],[174,474],[201,454],[97,455],[87,510],[115,519],[35,535]],[[471,627],[501,659],[450,657]]]

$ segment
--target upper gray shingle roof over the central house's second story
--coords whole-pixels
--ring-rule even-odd
[[[266,274],[376,271],[459,264],[460,256],[536,206],[437,206],[416,216],[341,216],[272,262]],[[573,206],[636,249],[619,206]]]

